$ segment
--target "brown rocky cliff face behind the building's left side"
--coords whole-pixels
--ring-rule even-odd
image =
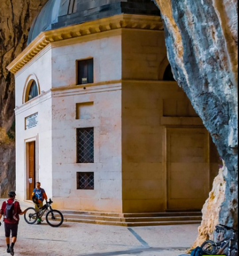
[[[6,66],[26,47],[29,28],[46,1],[0,1],[0,197],[15,189],[15,85]]]

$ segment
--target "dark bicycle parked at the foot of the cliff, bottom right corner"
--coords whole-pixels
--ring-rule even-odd
[[[224,237],[226,230],[232,233],[228,237]],[[232,227],[219,224],[216,225],[216,233],[218,233],[218,242],[204,241],[201,245],[203,253],[205,255],[238,256],[238,231]]]

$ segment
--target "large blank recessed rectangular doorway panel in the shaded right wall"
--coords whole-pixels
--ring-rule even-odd
[[[167,128],[167,209],[202,209],[209,193],[208,132]]]

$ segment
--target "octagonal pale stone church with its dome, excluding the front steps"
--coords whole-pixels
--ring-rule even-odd
[[[15,74],[16,190],[58,209],[201,209],[218,173],[151,0],[48,0]]]

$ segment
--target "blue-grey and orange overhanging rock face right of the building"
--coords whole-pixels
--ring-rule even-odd
[[[175,79],[187,93],[225,162],[214,181],[214,192],[218,193],[211,192],[204,205],[196,242],[199,244],[200,239],[211,235],[216,223],[237,225],[238,4],[236,0],[155,3],[164,20],[167,54]],[[219,190],[221,184],[223,190]]]

